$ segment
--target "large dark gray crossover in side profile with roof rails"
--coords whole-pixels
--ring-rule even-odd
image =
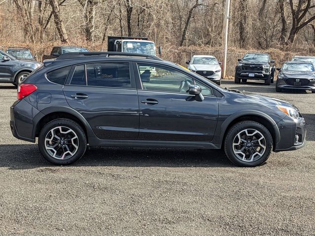
[[[295,106],[221,89],[155,56],[69,53],[44,65],[19,86],[10,126],[18,139],[38,137],[54,164],[80,159],[87,145],[223,148],[240,166],[304,146]]]

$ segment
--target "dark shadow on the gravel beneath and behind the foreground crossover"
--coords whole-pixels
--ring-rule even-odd
[[[53,166],[37,145],[0,145],[0,167],[12,170]],[[91,148],[72,166],[233,167],[222,150]]]

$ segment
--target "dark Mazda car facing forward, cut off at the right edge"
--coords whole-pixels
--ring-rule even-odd
[[[284,89],[311,90],[315,93],[315,70],[312,62],[287,61],[279,70],[276,91]]]

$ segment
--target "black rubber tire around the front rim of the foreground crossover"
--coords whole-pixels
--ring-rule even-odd
[[[237,154],[235,154],[233,151],[233,148],[234,148],[233,141],[235,141],[235,139],[238,139],[238,136],[237,136],[238,133],[242,132],[245,129],[258,131],[257,134],[258,135],[262,134],[264,137],[264,140],[265,140],[264,151],[263,151],[263,148],[260,149],[263,152],[263,153],[260,153],[262,155],[261,156],[259,155],[260,157],[258,157],[255,160],[253,159],[252,161],[246,161],[247,159],[241,160],[240,157],[238,157]],[[262,140],[261,142],[264,142],[264,141]],[[242,147],[242,146],[240,145],[240,147]],[[244,146],[244,148],[247,148],[247,146]],[[245,121],[241,121],[241,122],[234,124],[227,131],[227,134],[226,134],[225,139],[224,139],[225,154],[226,154],[227,158],[237,166],[255,167],[255,166],[262,165],[264,162],[266,162],[266,160],[270,156],[272,148],[273,148],[273,139],[272,139],[272,136],[271,136],[270,132],[268,131],[268,129],[265,126],[263,126],[262,124],[255,122],[255,121],[252,121],[252,120],[245,120]],[[256,148],[256,150],[257,149],[258,148]],[[248,151],[252,152],[253,150],[248,150]],[[255,156],[255,154],[253,154],[253,156]]]

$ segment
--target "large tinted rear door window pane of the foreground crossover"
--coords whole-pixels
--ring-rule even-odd
[[[88,86],[131,88],[129,63],[93,63],[86,70]]]

